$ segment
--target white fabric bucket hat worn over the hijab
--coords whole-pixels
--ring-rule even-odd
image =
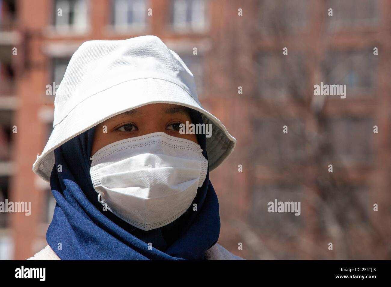
[[[54,129],[32,170],[50,182],[58,146],[112,116],[150,103],[195,109],[204,123],[212,124],[212,136],[206,138],[210,170],[233,152],[236,139],[201,106],[192,72],[160,38],[148,35],[86,41],[77,49],[56,91]]]

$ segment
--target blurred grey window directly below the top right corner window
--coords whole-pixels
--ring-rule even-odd
[[[329,52],[323,64],[325,84],[346,84],[346,88],[371,89],[375,86],[376,56],[373,51]]]

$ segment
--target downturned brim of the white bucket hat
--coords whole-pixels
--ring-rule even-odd
[[[129,96],[130,94],[136,96]],[[233,152],[236,139],[228,133],[219,119],[205,111],[201,103],[185,89],[168,80],[138,78],[111,86],[78,103],[54,126],[32,170],[43,180],[50,182],[55,164],[54,150],[57,147],[108,118],[150,103],[183,105],[201,112],[205,124],[212,123],[212,136],[206,138],[210,171]]]

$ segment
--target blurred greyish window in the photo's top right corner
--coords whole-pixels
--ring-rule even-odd
[[[327,9],[333,9],[328,16],[329,28],[375,25],[378,21],[378,0],[328,0]]]

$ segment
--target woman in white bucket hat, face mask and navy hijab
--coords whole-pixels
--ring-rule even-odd
[[[209,181],[235,144],[158,37],[83,43],[33,165],[57,203],[48,246],[28,260],[243,260],[217,244]]]

